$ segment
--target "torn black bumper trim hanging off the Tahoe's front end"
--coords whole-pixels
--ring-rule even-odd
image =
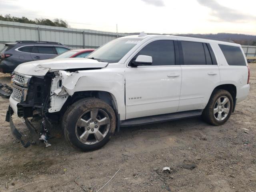
[[[12,122],[12,115],[13,115],[13,110],[9,106],[8,110],[6,112],[5,121],[10,122],[10,128],[11,128],[13,136],[17,140],[19,140],[25,148],[27,148],[28,146],[30,146],[31,142],[30,141],[26,142],[26,141],[22,140],[23,134],[18,131],[18,129],[15,127],[14,123]],[[28,121],[27,118],[25,118],[25,124],[26,124],[26,127],[28,128],[28,130],[30,130],[30,134],[32,136],[33,142],[35,142],[36,144],[39,144],[39,142],[40,142],[39,141],[39,136],[36,133],[36,130],[35,130],[34,126]]]

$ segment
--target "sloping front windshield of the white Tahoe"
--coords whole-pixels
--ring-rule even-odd
[[[112,40],[92,52],[88,58],[94,58],[108,63],[116,63],[141,40],[142,39],[138,38]]]

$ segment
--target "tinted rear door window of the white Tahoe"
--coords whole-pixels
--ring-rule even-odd
[[[192,41],[181,41],[184,65],[216,64],[209,44]]]

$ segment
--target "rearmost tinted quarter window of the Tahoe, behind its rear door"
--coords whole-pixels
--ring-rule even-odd
[[[229,65],[246,65],[244,55],[240,47],[222,44],[219,44],[219,46]]]

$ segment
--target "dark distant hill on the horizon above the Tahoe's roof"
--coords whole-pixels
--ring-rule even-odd
[[[140,33],[130,33],[130,34],[140,34]],[[148,33],[150,34],[150,33]],[[151,33],[152,34],[152,33]],[[171,35],[171,34],[164,34]],[[256,46],[256,36],[255,35],[245,35],[245,34],[233,34],[233,33],[217,33],[217,34],[182,34],[182,35],[192,35],[205,38],[214,38],[218,40],[231,40],[235,43],[241,45],[254,45]]]

